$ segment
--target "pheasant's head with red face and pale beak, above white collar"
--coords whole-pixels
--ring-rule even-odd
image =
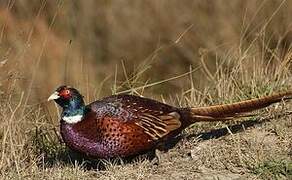
[[[83,96],[75,88],[69,86],[60,86],[57,90],[48,98],[48,101],[54,100],[62,108],[69,106],[83,106]]]

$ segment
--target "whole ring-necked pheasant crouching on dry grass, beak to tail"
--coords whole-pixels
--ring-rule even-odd
[[[63,108],[61,136],[72,150],[94,158],[133,157],[159,149],[199,121],[226,121],[291,99],[287,91],[208,107],[173,107],[134,95],[112,95],[85,105],[78,90],[60,86],[48,100]]]

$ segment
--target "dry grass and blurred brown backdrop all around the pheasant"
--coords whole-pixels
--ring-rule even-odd
[[[1,179],[292,178],[291,102],[194,124],[159,165],[82,160],[46,102],[63,83],[87,102],[128,91],[181,107],[289,89],[290,1],[33,2],[0,2]]]

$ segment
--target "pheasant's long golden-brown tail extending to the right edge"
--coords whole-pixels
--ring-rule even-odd
[[[247,112],[265,108],[273,103],[288,99],[292,99],[292,90],[237,103],[191,108],[191,118],[192,122],[198,122],[224,121],[237,117],[246,117],[248,116]]]

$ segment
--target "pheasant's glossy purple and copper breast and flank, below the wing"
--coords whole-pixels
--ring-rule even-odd
[[[87,117],[74,125],[62,123],[61,134],[73,150],[99,158],[137,155],[155,146],[135,123],[113,117]]]

